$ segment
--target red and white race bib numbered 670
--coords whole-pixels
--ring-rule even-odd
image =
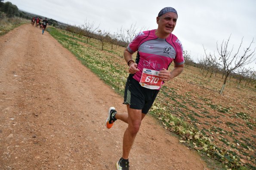
[[[158,74],[158,71],[143,69],[139,84],[148,89],[159,89],[163,81]]]

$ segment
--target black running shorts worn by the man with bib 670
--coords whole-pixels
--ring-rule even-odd
[[[130,104],[130,108],[142,110],[142,113],[147,114],[158,92],[157,89],[142,87],[130,74],[125,85],[123,104]]]

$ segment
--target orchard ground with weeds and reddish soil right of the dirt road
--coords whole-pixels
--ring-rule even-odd
[[[96,33],[84,36],[53,27],[47,31],[102,81],[123,94],[128,68],[123,60],[124,47],[118,41],[107,42],[109,35],[102,32],[105,40],[97,39]],[[180,143],[206,158],[211,169],[256,169],[255,78],[243,78],[238,88],[239,79],[233,75],[220,95],[222,72],[208,72],[212,70],[191,61],[179,77],[163,85],[150,114],[163,128],[177,134]]]

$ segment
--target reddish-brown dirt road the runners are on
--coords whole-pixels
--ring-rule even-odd
[[[114,170],[127,125],[105,128],[123,98],[47,32],[30,24],[0,37],[0,170]],[[131,170],[204,170],[196,152],[150,116],[130,154]]]

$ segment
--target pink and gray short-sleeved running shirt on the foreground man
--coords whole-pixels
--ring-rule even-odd
[[[176,65],[184,63],[182,44],[179,39],[173,34],[166,39],[160,39],[155,35],[155,31],[140,32],[127,47],[132,54],[138,51],[136,63],[140,71],[133,76],[138,82],[143,68],[160,71],[163,68],[168,69],[173,61]]]

